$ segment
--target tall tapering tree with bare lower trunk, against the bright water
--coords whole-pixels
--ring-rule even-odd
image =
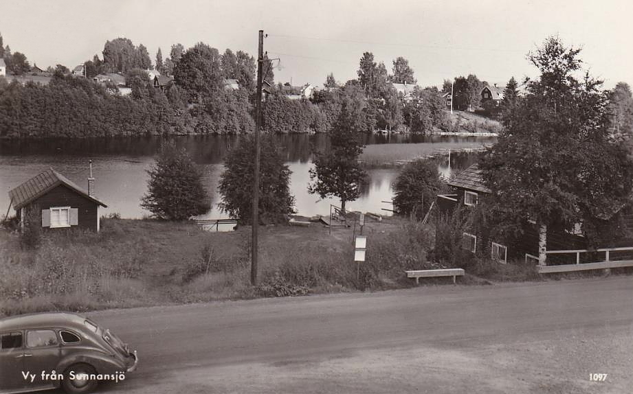
[[[357,120],[348,105],[343,104],[335,128],[329,133],[330,150],[315,154],[314,167],[310,170],[313,183],[308,186],[308,192],[321,198],[340,198],[342,211],[346,202],[360,196],[360,187],[367,177],[358,162],[363,146],[351,127]]]

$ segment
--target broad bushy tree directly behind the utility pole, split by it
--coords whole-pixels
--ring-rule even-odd
[[[224,162],[219,192],[219,207],[241,224],[252,222],[255,140],[252,135],[240,139]],[[291,171],[284,156],[269,137],[261,141],[259,221],[260,224],[287,222],[294,213],[290,194]]]

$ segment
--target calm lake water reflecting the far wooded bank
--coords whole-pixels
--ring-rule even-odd
[[[296,198],[300,215],[328,215],[330,204],[340,205],[336,199],[320,200],[307,192],[312,166],[311,148],[327,148],[326,135],[285,135],[276,137],[286,155],[292,171],[291,192]],[[204,218],[225,218],[217,208],[219,195],[216,187],[223,171],[223,159],[228,149],[238,143],[237,137],[174,137],[177,146],[186,148],[194,161],[205,172],[206,187],[212,198],[212,209]],[[367,144],[362,159],[370,163],[406,160],[440,148],[466,148],[492,143],[491,138],[477,137],[391,137],[366,135]],[[0,141],[0,215],[4,217],[8,206],[8,191],[39,172],[53,167],[71,181],[87,189],[88,161],[93,161],[96,178],[95,194],[107,205],[102,214],[120,213],[123,218],[141,218],[148,215],[140,207],[140,198],[146,192],[147,172],[159,148],[159,137],[52,140],[52,141]],[[444,157],[438,170],[449,176],[454,168],[463,168],[474,161],[472,155],[452,154],[449,163]],[[397,168],[370,170],[370,182],[362,190],[362,196],[348,203],[348,209],[388,213],[391,208],[382,201],[390,201],[392,182]]]

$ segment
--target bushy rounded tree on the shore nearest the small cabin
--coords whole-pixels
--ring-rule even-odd
[[[157,218],[187,220],[210,209],[202,172],[186,150],[178,150],[174,143],[161,146],[148,174],[148,192],[141,207]]]

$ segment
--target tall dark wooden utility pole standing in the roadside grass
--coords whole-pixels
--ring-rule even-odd
[[[253,180],[253,240],[251,244],[251,284],[257,285],[257,230],[259,227],[259,161],[260,128],[262,126],[262,81],[264,62],[264,31],[259,31],[257,52],[257,103],[255,113],[255,174]]]

